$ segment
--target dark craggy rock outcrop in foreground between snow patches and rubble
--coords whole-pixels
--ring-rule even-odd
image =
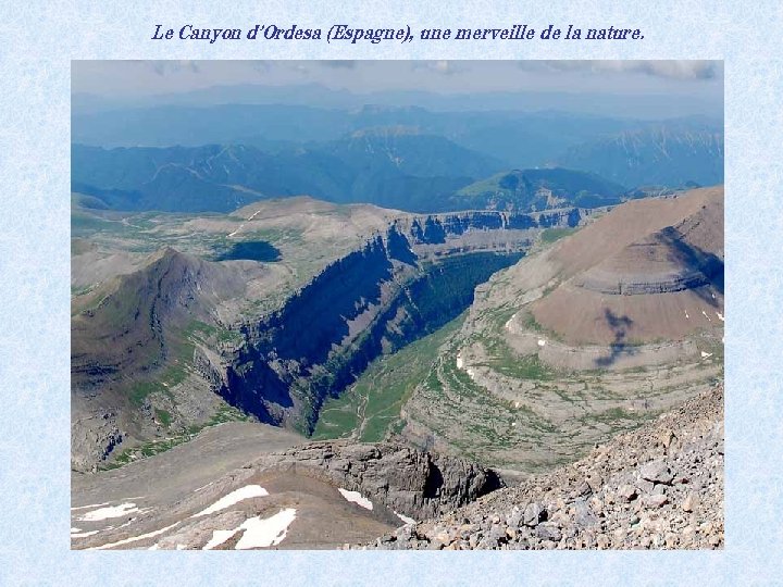
[[[251,466],[314,476],[417,520],[467,505],[504,486],[492,470],[395,444],[311,442]]]

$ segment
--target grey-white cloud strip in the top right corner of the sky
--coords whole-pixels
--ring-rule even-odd
[[[708,60],[570,60],[520,61],[529,71],[631,73],[670,79],[713,79],[723,75],[722,61]]]

